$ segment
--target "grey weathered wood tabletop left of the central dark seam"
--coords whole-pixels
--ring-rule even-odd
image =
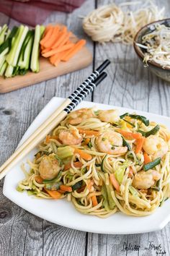
[[[77,9],[72,14],[53,12],[45,24],[64,23],[81,38],[84,35],[79,14],[84,13],[84,8],[89,12],[91,1],[86,1],[81,9]],[[5,15],[0,17],[0,22],[1,24],[8,22]],[[9,20],[9,26],[13,25],[19,25],[19,23]],[[93,44],[87,43],[87,46],[92,52]],[[0,163],[12,154],[27,127],[48,101],[55,95],[67,97],[91,71],[92,67],[87,67],[80,72],[0,95]],[[2,195],[2,182],[0,192],[1,255],[84,255],[85,232],[66,229],[43,221],[22,210]]]

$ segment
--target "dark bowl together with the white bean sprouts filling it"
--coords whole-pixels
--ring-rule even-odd
[[[170,82],[170,19],[141,28],[135,35],[133,46],[144,67]]]

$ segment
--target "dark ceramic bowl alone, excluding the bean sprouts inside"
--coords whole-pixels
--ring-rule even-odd
[[[158,20],[156,22],[151,22],[151,23],[147,24],[146,26],[142,27],[138,31],[138,33],[135,35],[133,46],[135,48],[136,54],[138,55],[138,57],[141,61],[143,61],[144,54],[145,54],[146,50],[137,46],[136,43],[142,43],[143,35],[151,33],[153,30],[155,30],[156,24],[166,25],[166,27],[170,27],[170,19],[164,19],[164,20]],[[163,68],[163,67],[161,67],[160,64],[157,64],[155,61],[148,61],[148,69],[150,69],[151,72],[156,74],[158,77],[161,77],[162,79],[170,82],[170,68],[169,67]]]

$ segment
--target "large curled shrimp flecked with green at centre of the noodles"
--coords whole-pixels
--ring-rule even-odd
[[[115,131],[103,132],[102,135],[96,139],[97,148],[100,152],[108,154],[123,155],[127,152],[127,147],[122,147],[122,137]]]

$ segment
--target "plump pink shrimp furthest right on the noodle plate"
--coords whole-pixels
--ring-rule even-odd
[[[153,159],[156,159],[162,158],[168,152],[169,147],[161,137],[150,135],[145,139],[143,149],[148,155],[153,155]]]

